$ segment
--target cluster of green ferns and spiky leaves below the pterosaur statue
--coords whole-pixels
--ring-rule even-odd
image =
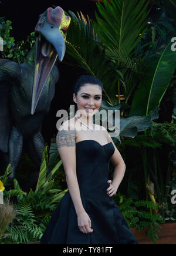
[[[38,183],[35,191],[25,193],[22,191],[17,180],[13,181],[14,189],[4,191],[5,198],[16,198],[16,218],[13,224],[6,229],[8,240],[16,243],[38,241],[42,237],[50,217],[58,203],[65,195],[66,190],[52,189],[53,176],[60,168],[62,161],[57,164],[46,176],[48,168],[48,147],[43,151],[43,159],[40,166]],[[5,171],[1,180],[6,183],[9,176],[9,168]]]

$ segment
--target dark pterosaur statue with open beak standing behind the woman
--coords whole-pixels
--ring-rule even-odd
[[[0,151],[11,163],[14,180],[23,146],[40,168],[45,142],[40,134],[59,80],[57,56],[65,56],[70,17],[62,8],[48,8],[36,24],[36,45],[22,65],[0,59]],[[1,152],[1,153],[2,153]]]

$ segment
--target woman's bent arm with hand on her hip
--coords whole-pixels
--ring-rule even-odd
[[[120,183],[124,178],[124,174],[126,172],[126,164],[124,163],[124,160],[123,160],[119,150],[115,146],[113,140],[111,139],[109,133],[107,132],[107,130],[105,128],[104,128],[104,132],[106,134],[107,141],[112,142],[114,149],[115,149],[114,154],[110,159],[115,167],[114,173],[113,173],[113,180],[111,181],[110,187],[107,189],[107,193],[109,193],[109,196],[111,197],[114,194],[116,194],[116,192],[120,186]]]

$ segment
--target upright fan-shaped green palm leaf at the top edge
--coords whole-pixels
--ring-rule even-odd
[[[136,47],[146,30],[148,4],[145,0],[97,2],[99,14],[93,26],[111,55],[122,51],[129,56]]]

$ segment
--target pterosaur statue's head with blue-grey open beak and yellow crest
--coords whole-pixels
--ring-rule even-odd
[[[66,49],[66,33],[70,25],[70,19],[59,6],[55,9],[48,8],[39,16],[39,21],[35,28],[38,38],[36,41],[31,114],[35,112],[40,93],[53,65],[55,65],[57,56],[60,61],[63,60]]]

